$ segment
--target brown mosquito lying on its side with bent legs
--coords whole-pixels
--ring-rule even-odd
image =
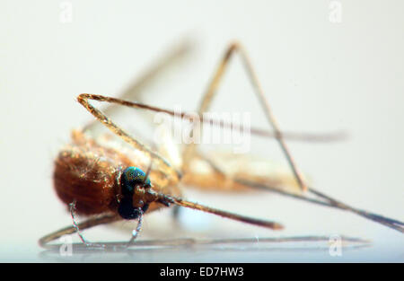
[[[163,60],[161,65],[169,64],[172,57],[182,52],[183,49],[176,50]],[[277,184],[277,180],[271,180],[270,177],[257,179],[252,176],[240,176],[237,174],[228,174],[225,167],[215,162],[209,155],[198,151],[196,144],[185,145],[182,152],[182,162],[177,167],[162,154],[154,151],[148,145],[143,144],[139,139],[131,136],[127,131],[116,125],[107,112],[111,112],[113,106],[119,105],[136,110],[150,110],[154,112],[164,112],[171,116],[176,115],[173,110],[165,110],[150,106],[144,103],[127,101],[126,96],[114,98],[98,94],[83,93],[77,97],[77,101],[83,105],[98,121],[115,135],[119,136],[124,142],[132,146],[130,154],[126,154],[114,147],[101,144],[101,142],[86,132],[92,128],[94,122],[88,124],[82,129],[72,132],[72,142],[58,154],[55,161],[53,174],[54,186],[57,196],[69,207],[73,225],[50,233],[40,238],[40,245],[46,246],[50,241],[72,233],[78,233],[81,241],[86,246],[101,246],[105,244],[92,243],[83,236],[83,230],[89,229],[100,224],[110,224],[121,220],[136,220],[136,229],[132,232],[131,239],[127,246],[131,245],[137,238],[141,230],[143,217],[145,213],[150,213],[162,207],[183,206],[197,209],[213,215],[220,215],[225,218],[233,219],[246,224],[254,224],[266,227],[272,230],[281,230],[284,226],[275,221],[269,221],[239,215],[227,212],[218,208],[198,204],[193,201],[181,198],[179,185],[191,185],[201,188],[221,189],[225,181],[225,189],[259,189],[307,201],[321,206],[334,207],[364,216],[379,224],[384,224],[401,233],[404,232],[404,224],[382,215],[376,215],[371,212],[348,206],[337,199],[321,193],[317,189],[308,186],[303,174],[298,168],[292,154],[290,153],[285,139],[300,140],[333,140],[338,139],[338,135],[313,136],[309,134],[294,134],[283,132],[277,125],[268,100],[259,84],[258,76],[250,63],[247,52],[240,43],[233,43],[224,52],[224,57],[219,62],[213,75],[213,79],[208,84],[206,92],[198,108],[198,117],[202,122],[215,123],[221,127],[231,127],[240,129],[234,124],[224,123],[220,120],[206,119],[203,113],[206,112],[217,92],[221,79],[224,76],[226,67],[234,54],[238,54],[242,59],[242,65],[250,79],[250,83],[259,99],[259,103],[264,110],[268,124],[272,127],[272,132],[251,128],[251,133],[257,136],[273,137],[277,140],[285,158],[293,172],[295,182],[300,189],[296,192],[292,189],[283,189]],[[150,80],[151,74],[160,71],[161,66],[153,68],[148,75],[142,77],[134,86],[135,90],[142,87]],[[132,90],[134,90],[132,89]],[[135,91],[136,92],[136,91]],[[91,101],[108,102],[110,108],[99,110],[92,105]],[[191,120],[194,115],[181,113],[180,117]],[[191,130],[191,134],[192,134]],[[191,162],[204,162],[211,170],[208,173],[199,173],[191,169]],[[290,182],[290,181],[289,181]],[[223,188],[222,188],[223,189]],[[75,215],[90,215],[90,218],[78,224]]]

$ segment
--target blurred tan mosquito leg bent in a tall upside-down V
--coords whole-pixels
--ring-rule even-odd
[[[209,83],[207,90],[202,98],[202,101],[199,106],[198,113],[199,115],[203,114],[210,106],[215,93],[217,92],[217,88],[219,86],[219,83],[221,79],[223,78],[224,72],[226,70],[226,66],[228,65],[230,58],[233,56],[235,52],[238,52],[240,56],[242,57],[242,63],[246,69],[247,75],[250,79],[250,83],[252,84],[254,91],[257,94],[257,97],[260,101],[260,104],[267,116],[269,124],[272,126],[275,137],[277,138],[277,141],[279,145],[281,146],[285,157],[287,159],[287,162],[289,162],[290,167],[292,168],[292,171],[294,172],[294,177],[296,178],[297,182],[299,183],[301,189],[307,190],[307,185],[305,184],[303,180],[303,175],[302,173],[298,170],[294,159],[292,155],[289,152],[289,149],[287,148],[285,144],[284,137],[277,125],[277,119],[275,118],[269,103],[267,101],[267,98],[264,95],[264,92],[259,84],[259,80],[257,78],[257,75],[254,72],[254,69],[252,68],[252,65],[250,63],[250,58],[247,56],[247,53],[245,50],[242,48],[242,46],[238,43],[233,43],[225,52],[224,57],[222,58],[221,62],[219,63],[218,68],[216,69],[215,75],[211,83]],[[191,131],[192,134],[192,131]],[[190,159],[192,158],[194,152],[196,149],[195,144],[189,144],[183,154],[183,161],[184,161],[184,169],[188,166],[188,163]]]

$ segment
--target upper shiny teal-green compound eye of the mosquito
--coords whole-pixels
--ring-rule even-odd
[[[128,167],[122,173],[120,178],[120,184],[122,189],[122,195],[132,196],[136,186],[143,185],[146,189],[151,187],[149,178],[145,180],[145,171],[136,167]]]

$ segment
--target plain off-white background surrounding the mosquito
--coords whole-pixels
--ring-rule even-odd
[[[41,260],[40,236],[70,224],[52,190],[51,173],[69,131],[91,119],[76,95],[121,92],[184,35],[198,43],[191,64],[155,90],[158,100],[150,102],[194,110],[224,48],[240,40],[283,129],[350,134],[348,141],[332,145],[290,143],[314,186],[353,206],[404,220],[403,2],[342,1],[340,23],[329,22],[329,2],[71,1],[73,21],[62,23],[60,1],[2,1],[0,260]],[[221,92],[215,109],[243,106],[257,114],[257,125],[266,125],[236,60]],[[277,151],[275,142],[257,141],[251,153],[278,160]],[[212,218],[227,229],[224,234],[340,233],[373,241],[370,249],[335,259],[327,253],[236,252],[220,261],[404,260],[402,234],[356,215],[272,195],[245,201],[189,198],[286,226],[274,234]],[[218,261],[215,252],[142,255],[134,260]]]

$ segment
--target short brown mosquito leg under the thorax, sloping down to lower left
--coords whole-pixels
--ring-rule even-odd
[[[100,225],[100,224],[110,224],[113,222],[117,222],[119,220],[122,220],[122,218],[119,215],[115,215],[115,214],[104,214],[101,216],[96,216],[96,217],[92,217],[89,218],[86,221],[83,221],[80,224],[76,224],[76,226],[81,230],[85,230],[85,229],[89,229],[92,228],[93,226],[96,225]],[[76,233],[76,227],[75,226],[68,226],[66,228],[62,228],[60,230],[58,230],[55,233],[49,233],[48,235],[40,238],[40,246],[46,248],[49,242],[51,241],[55,241],[58,238],[64,236],[64,235],[68,235],[68,234],[73,234]]]

